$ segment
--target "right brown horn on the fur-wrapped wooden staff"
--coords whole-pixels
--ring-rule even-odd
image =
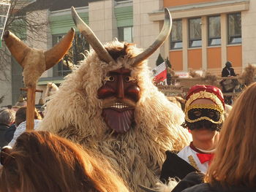
[[[72,40],[75,36],[75,29],[71,28],[69,32],[61,39],[61,41],[52,47],[50,50],[45,51],[45,65],[46,69],[50,69],[56,63],[58,63],[61,58],[67,53],[72,45]]]

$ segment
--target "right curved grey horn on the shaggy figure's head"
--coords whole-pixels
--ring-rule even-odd
[[[152,55],[157,50],[157,48],[160,47],[163,42],[165,42],[165,39],[167,39],[167,37],[170,34],[171,28],[172,18],[170,16],[169,10],[165,8],[165,23],[164,26],[162,27],[162,31],[160,32],[157,39],[151,46],[149,46],[146,50],[143,51],[143,53],[140,53],[134,58],[133,65],[136,66],[140,64],[141,61],[145,60],[150,55]]]

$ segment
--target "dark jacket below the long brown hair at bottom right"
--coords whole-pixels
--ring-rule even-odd
[[[245,186],[230,186],[227,188],[223,188],[222,185],[219,185],[219,183],[213,186],[208,183],[202,183],[199,185],[195,185],[191,188],[187,188],[182,192],[256,192],[256,188],[248,188]]]

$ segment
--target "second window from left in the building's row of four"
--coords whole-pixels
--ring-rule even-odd
[[[189,19],[189,47],[201,47],[201,18]]]

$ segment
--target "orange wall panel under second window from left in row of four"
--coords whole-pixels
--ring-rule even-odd
[[[202,69],[202,49],[187,51],[188,69]]]

